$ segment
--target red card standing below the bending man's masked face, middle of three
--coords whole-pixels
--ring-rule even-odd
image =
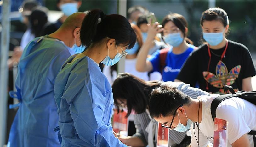
[[[169,129],[163,128],[160,123],[158,123],[158,133],[157,133],[157,147],[168,147],[169,146]]]

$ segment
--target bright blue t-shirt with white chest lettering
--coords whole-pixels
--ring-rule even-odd
[[[189,48],[181,54],[174,54],[172,52],[172,48],[168,51],[166,60],[165,60],[165,67],[163,71],[160,71],[160,50],[156,51],[151,57],[147,60],[150,61],[153,65],[152,72],[160,72],[162,73],[162,79],[164,82],[166,81],[174,81],[174,79],[178,76],[180,72],[180,68],[182,67],[183,63],[188,58],[189,54],[195,49],[196,47],[191,45]]]

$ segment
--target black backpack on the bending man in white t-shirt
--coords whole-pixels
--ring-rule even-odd
[[[253,103],[254,105],[256,105],[256,91],[238,91],[235,92],[234,89],[231,86],[224,86],[224,91],[230,91],[232,94],[224,94],[224,95],[220,95],[218,97],[216,97],[215,99],[213,99],[213,102],[211,104],[211,114],[212,114],[212,118],[214,121],[214,118],[216,117],[216,109],[219,105],[219,103],[221,103],[222,101],[224,101],[225,99],[229,99],[232,97],[239,97],[241,99],[245,99],[248,102]],[[256,122],[255,122],[256,124]],[[256,131],[251,130],[248,135],[253,135],[253,144],[254,147],[256,147]]]

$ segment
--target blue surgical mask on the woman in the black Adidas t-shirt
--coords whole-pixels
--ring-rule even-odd
[[[225,29],[222,32],[219,33],[204,33],[203,32],[203,39],[208,42],[211,46],[216,46],[219,43],[222,42],[223,38],[223,33]]]

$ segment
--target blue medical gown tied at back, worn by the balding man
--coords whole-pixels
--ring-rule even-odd
[[[57,39],[35,38],[23,51],[15,81],[20,107],[11,126],[9,147],[58,147],[59,116],[54,82],[70,57],[70,48]]]

